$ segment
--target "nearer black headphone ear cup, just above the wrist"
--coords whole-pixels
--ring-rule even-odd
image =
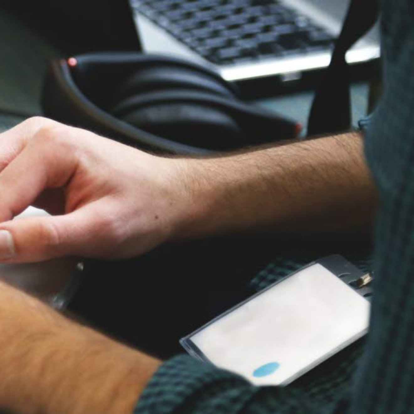
[[[269,142],[282,127],[284,137],[289,137],[293,126],[260,108],[205,91],[182,89],[130,96],[120,101],[112,114],[154,135],[181,144],[189,138],[191,144],[210,150]]]

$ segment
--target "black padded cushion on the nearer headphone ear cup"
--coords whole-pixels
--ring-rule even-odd
[[[223,111],[190,103],[157,103],[131,108],[120,118],[163,138],[212,150],[241,147],[244,133]]]

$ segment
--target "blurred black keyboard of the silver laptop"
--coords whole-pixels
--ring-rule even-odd
[[[329,51],[334,42],[276,0],[131,0],[131,6],[216,65]]]

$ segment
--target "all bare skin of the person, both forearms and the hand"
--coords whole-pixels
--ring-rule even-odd
[[[219,233],[361,234],[375,206],[357,134],[166,158],[42,118],[0,135],[0,194],[3,262],[125,258]],[[29,205],[53,216],[12,221]],[[0,320],[0,406],[14,412],[130,412],[160,364],[3,283]]]

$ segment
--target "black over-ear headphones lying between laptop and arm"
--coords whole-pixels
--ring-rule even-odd
[[[178,58],[93,53],[52,63],[45,116],[155,152],[203,154],[296,137],[301,125],[243,102],[214,70]]]

